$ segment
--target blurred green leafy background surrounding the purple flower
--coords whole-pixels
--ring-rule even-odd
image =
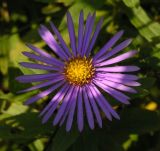
[[[159,0],[1,0],[0,1],[0,151],[159,151],[160,150],[160,1]],[[139,93],[131,95],[131,105],[111,100],[120,121],[104,119],[103,128],[79,133],[74,124],[70,133],[42,125],[39,111],[49,98],[33,106],[23,102],[36,92],[16,94],[28,87],[15,81],[21,74],[35,73],[19,66],[25,61],[25,43],[45,47],[39,38],[40,24],[53,21],[66,42],[65,13],[73,14],[78,26],[79,11],[96,11],[104,24],[97,41],[100,48],[114,33],[125,29],[123,39],[133,38],[128,49],[139,54],[127,62],[141,68]],[[122,40],[123,40],[122,39]],[[46,50],[48,50],[46,48]],[[37,73],[37,71],[36,71]]]

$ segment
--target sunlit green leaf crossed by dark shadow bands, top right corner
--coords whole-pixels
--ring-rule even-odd
[[[138,29],[142,37],[146,38],[149,42],[152,42],[159,48],[160,42],[156,39],[157,37],[160,37],[160,24],[153,21],[148,16],[137,0],[123,0],[123,2],[127,6],[125,13],[127,14],[130,22]]]

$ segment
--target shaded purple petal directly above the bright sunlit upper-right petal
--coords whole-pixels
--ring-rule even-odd
[[[106,55],[98,58],[97,60],[94,59],[94,61],[97,63],[97,62],[102,62],[103,60],[106,60],[106,59],[110,58],[111,56],[115,55],[119,51],[126,48],[131,43],[131,41],[132,41],[132,39],[127,39],[127,40],[123,41],[122,43],[120,43],[119,45],[114,47],[111,51],[106,53]]]

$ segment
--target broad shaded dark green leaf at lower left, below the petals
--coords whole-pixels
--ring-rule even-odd
[[[46,137],[53,131],[54,127],[50,122],[42,124],[37,112],[27,111],[3,119],[0,125],[0,138],[24,143],[35,138]]]

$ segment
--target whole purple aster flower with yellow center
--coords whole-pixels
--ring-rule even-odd
[[[78,37],[76,38],[72,17],[67,12],[71,48],[66,45],[55,25],[51,23],[54,36],[43,25],[39,28],[39,34],[56,57],[30,44],[27,46],[35,53],[23,52],[25,56],[38,61],[38,63],[21,62],[22,66],[48,71],[46,74],[23,75],[16,78],[21,83],[40,82],[21,90],[21,93],[47,87],[46,90],[29,98],[25,104],[32,104],[51,93],[55,94],[40,113],[40,116],[43,117],[42,123],[54,116],[53,125],[61,126],[66,121],[66,130],[69,131],[72,127],[73,117],[77,116],[78,129],[82,131],[86,116],[91,129],[94,129],[95,123],[102,127],[100,112],[103,112],[108,120],[112,120],[113,117],[120,118],[102,92],[106,92],[107,95],[124,104],[129,104],[130,98],[123,92],[136,93],[132,87],[140,85],[136,82],[138,77],[128,73],[137,71],[139,68],[132,65],[115,65],[137,53],[137,51],[131,50],[115,56],[131,43],[131,39],[114,46],[123,35],[123,31],[120,31],[92,56],[91,51],[93,51],[103,19],[99,20],[93,32],[94,21],[95,13],[88,14],[84,26],[84,15],[81,11]]]

